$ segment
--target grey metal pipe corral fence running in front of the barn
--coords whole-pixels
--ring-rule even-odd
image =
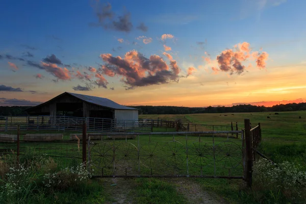
[[[16,130],[68,130],[82,132],[86,122],[88,132],[152,132],[150,121],[118,120],[109,118],[68,117],[68,116],[5,116],[0,119],[0,131]]]

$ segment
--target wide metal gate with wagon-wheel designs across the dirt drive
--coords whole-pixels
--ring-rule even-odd
[[[93,137],[88,134],[88,164],[94,177],[245,177],[243,131]]]

